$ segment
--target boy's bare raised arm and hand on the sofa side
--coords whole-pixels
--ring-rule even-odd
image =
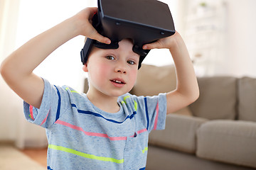
[[[193,69],[193,64],[188,55],[185,42],[176,32],[171,37],[160,39],[148,45],[144,49],[168,48],[174,59],[177,76],[177,87],[167,93],[167,113],[174,113],[196,101],[199,96],[198,82]]]

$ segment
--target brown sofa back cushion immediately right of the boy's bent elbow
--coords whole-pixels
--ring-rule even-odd
[[[236,84],[234,77],[198,78],[200,96],[189,107],[193,115],[201,118],[235,119]]]

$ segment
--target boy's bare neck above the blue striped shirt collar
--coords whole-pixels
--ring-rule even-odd
[[[120,110],[120,106],[117,103],[118,97],[92,95],[90,91],[87,92],[86,96],[94,106],[100,108],[102,111],[107,113],[117,113]]]

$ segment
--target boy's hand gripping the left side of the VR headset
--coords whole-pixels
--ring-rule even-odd
[[[92,16],[97,13],[97,8],[85,8],[79,13],[77,13],[74,17],[78,19],[78,34],[85,35],[87,38],[91,38],[106,44],[110,44],[111,40],[106,38],[100,33],[97,33],[97,30],[92,26]]]

